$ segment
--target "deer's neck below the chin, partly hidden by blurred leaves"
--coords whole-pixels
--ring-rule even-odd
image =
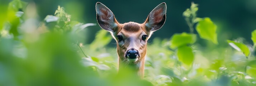
[[[129,73],[130,75],[135,75],[136,77],[140,77],[143,79],[144,77],[144,62],[145,58],[143,57],[140,61],[137,62],[123,62],[121,58],[119,58],[119,73]],[[129,70],[129,72],[127,72]]]

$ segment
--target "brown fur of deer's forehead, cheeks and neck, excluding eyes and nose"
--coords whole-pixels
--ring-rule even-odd
[[[141,44],[139,41],[143,41],[140,40],[141,39],[141,34],[145,33],[146,35],[150,35],[150,32],[146,29],[145,24],[139,24],[139,23],[134,23],[134,22],[129,22],[129,23],[124,23],[124,24],[118,24],[118,32],[114,35],[116,37],[116,35],[118,33],[122,33],[124,35],[124,37],[126,38],[124,43],[124,46],[119,46],[119,43],[117,41],[117,52],[118,52],[118,57],[119,57],[119,72],[122,72],[122,68],[124,68],[126,66],[126,64],[122,61],[124,61],[125,58],[125,52],[129,49],[129,48],[135,48],[136,50],[138,50],[140,57],[138,58],[138,61],[136,62],[131,62],[128,65],[132,65],[132,64],[136,64],[138,65],[138,63],[141,62],[141,65],[139,65],[140,67],[135,68],[135,72],[137,72],[138,77],[143,78],[144,76],[144,62],[145,62],[145,56],[146,56],[146,52],[147,52],[147,40],[145,42],[145,44]],[[134,42],[136,41],[136,42]],[[133,46],[130,46],[132,43]],[[124,67],[123,67],[124,66]]]

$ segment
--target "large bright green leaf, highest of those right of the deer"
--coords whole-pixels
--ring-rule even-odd
[[[199,21],[196,26],[196,31],[200,35],[200,38],[211,40],[213,43],[218,44],[217,41],[217,26],[211,21],[210,18],[204,18]]]

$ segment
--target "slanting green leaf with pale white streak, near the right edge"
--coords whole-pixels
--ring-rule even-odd
[[[250,53],[249,48],[243,44],[243,43],[237,43],[234,42],[232,40],[227,40],[228,44],[233,47],[234,49],[236,49],[237,51],[243,52],[243,54],[245,54],[245,56],[248,56]]]

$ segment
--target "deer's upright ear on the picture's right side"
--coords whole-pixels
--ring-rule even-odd
[[[144,22],[146,27],[148,27],[150,32],[154,32],[160,29],[165,23],[166,19],[166,4],[161,3],[153,9],[148,18]]]

